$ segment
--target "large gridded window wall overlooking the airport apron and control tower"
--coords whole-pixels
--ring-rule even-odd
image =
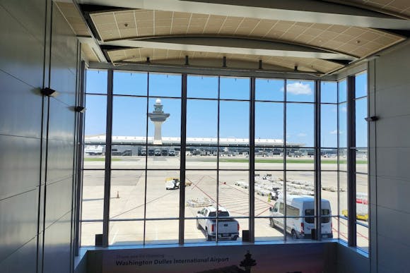
[[[347,241],[346,90],[346,81],[88,70],[81,245],[228,241],[219,229],[233,222],[232,241]],[[300,196],[310,207],[295,205]]]

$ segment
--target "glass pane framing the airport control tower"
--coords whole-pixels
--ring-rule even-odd
[[[148,143],[181,142],[181,99],[149,99]]]

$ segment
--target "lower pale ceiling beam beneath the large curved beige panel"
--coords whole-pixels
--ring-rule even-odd
[[[355,61],[355,56],[334,53],[298,44],[251,40],[238,37],[150,37],[136,40],[111,40],[101,45],[117,47],[141,47],[182,51],[202,51],[221,54],[245,54],[259,56],[283,56],[316,59]]]

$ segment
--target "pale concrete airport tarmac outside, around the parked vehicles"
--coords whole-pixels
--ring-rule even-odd
[[[180,176],[179,157],[112,157],[112,178],[110,189],[110,245],[136,245],[177,243],[180,217],[180,190],[166,190],[165,179]],[[222,158],[221,158],[222,159]],[[238,160],[235,160],[238,159]],[[194,218],[197,211],[206,205],[225,207],[232,217],[240,224],[240,238],[242,230],[248,229],[249,217],[249,190],[235,182],[249,181],[248,163],[245,157],[232,157],[221,160],[220,171],[216,169],[216,157],[187,157],[186,178],[191,183],[185,188],[185,217]],[[264,158],[266,159],[266,158]],[[300,162],[287,164],[286,193],[293,194],[297,187],[307,188],[313,186],[314,166],[305,163],[306,158]],[[324,158],[323,162],[331,160]],[[336,164],[322,164],[322,198],[329,200],[332,215],[347,209],[346,175],[341,173],[339,191],[340,202],[337,195]],[[283,163],[264,163],[260,160],[255,165],[257,185],[270,183],[270,181],[283,181]],[[145,166],[148,171],[145,171]],[[95,234],[102,233],[102,209],[104,169],[103,157],[86,157],[83,174],[83,212],[81,225],[81,245],[94,245]],[[358,172],[367,172],[367,164],[358,164]],[[152,170],[149,170],[152,169]],[[266,176],[268,175],[268,176]],[[263,178],[265,176],[266,180]],[[219,181],[219,182],[218,182]],[[282,182],[283,183],[283,182]],[[238,184],[238,183],[237,183]],[[298,186],[299,185],[299,186]],[[256,185],[255,185],[256,186]],[[296,188],[295,188],[296,187]],[[283,192],[283,186],[279,189]],[[367,193],[367,177],[357,176],[357,192]],[[296,191],[297,192],[297,191]],[[267,195],[255,193],[255,240],[273,241],[283,240],[283,231],[269,226],[269,207],[275,203]],[[146,204],[146,205],[144,205]],[[144,218],[147,220],[144,222]],[[167,220],[162,220],[167,218]],[[93,221],[95,220],[95,222]],[[347,222],[344,219],[338,223],[338,218],[333,218],[334,238],[347,238]],[[363,224],[366,222],[358,221]],[[145,229],[144,229],[145,226]],[[368,248],[368,228],[357,226],[358,246]],[[290,236],[286,237],[291,240]],[[204,231],[198,230],[195,219],[185,220],[185,243],[205,242]]]

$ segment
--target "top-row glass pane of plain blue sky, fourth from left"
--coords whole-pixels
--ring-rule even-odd
[[[187,97],[218,98],[218,77],[188,75]]]

